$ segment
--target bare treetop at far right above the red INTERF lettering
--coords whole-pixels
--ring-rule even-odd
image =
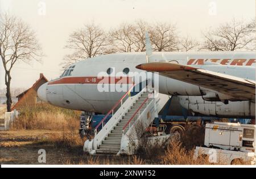
[[[210,51],[253,50],[255,48],[255,23],[235,19],[204,33],[201,49]]]

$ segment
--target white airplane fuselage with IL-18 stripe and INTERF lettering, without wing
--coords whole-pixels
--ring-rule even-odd
[[[183,65],[196,65],[202,69],[238,76],[244,79],[255,80],[255,53],[249,52],[155,52],[152,58],[158,61],[180,63]],[[52,80],[38,90],[43,100],[63,108],[84,110],[86,112],[106,113],[120,99],[133,83],[134,72],[141,72],[135,66],[146,62],[146,53],[118,53],[98,56],[74,63],[64,75]],[[214,65],[220,63],[221,65]],[[112,68],[109,75],[106,72]],[[129,69],[129,74],[123,73]],[[110,70],[111,71],[111,70]],[[132,75],[130,75],[132,74]],[[112,90],[100,91],[102,76],[108,78]],[[120,76],[127,78],[122,83]],[[115,91],[113,91],[115,89]],[[167,95],[197,96],[200,97],[205,88],[179,80],[159,76],[159,92]],[[182,100],[181,100],[182,101]],[[221,102],[218,102],[221,103]],[[233,102],[236,103],[236,102]],[[250,101],[248,102],[250,103]],[[186,106],[186,105],[184,105]],[[252,112],[255,116],[255,109]],[[204,114],[204,113],[203,113]],[[251,114],[250,114],[251,115]],[[225,115],[224,115],[225,116]]]

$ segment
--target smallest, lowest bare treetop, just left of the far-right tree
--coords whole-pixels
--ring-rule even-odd
[[[179,41],[178,51],[188,52],[189,50],[195,50],[196,47],[199,46],[199,42],[191,37],[187,36],[185,38],[181,38]]]

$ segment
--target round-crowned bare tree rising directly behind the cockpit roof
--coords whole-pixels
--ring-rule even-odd
[[[81,59],[103,54],[107,45],[108,36],[100,26],[94,23],[85,24],[69,36],[65,48],[73,50],[73,53],[64,57],[62,65],[67,66]]]

